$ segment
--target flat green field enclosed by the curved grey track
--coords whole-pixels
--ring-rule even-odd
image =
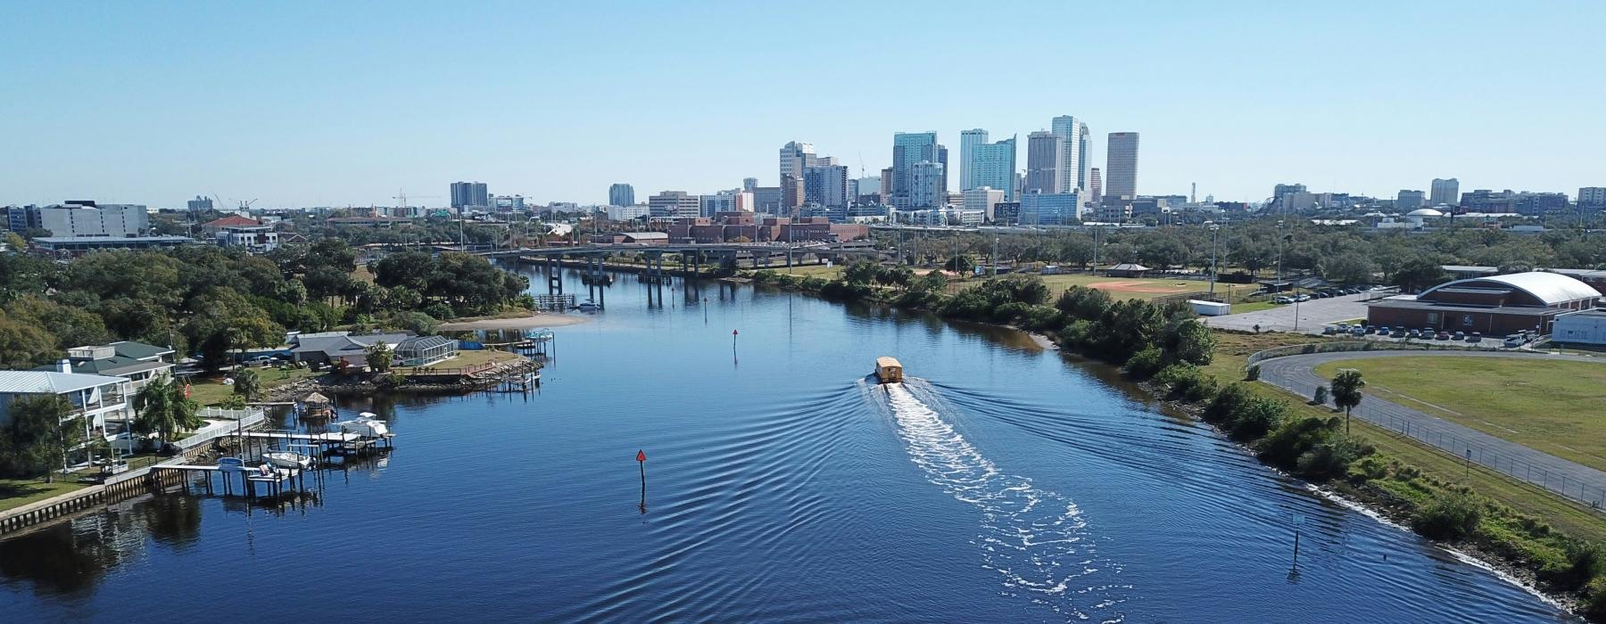
[[[1367,390],[1497,438],[1606,470],[1606,366],[1500,358],[1380,358],[1327,363],[1357,369]]]

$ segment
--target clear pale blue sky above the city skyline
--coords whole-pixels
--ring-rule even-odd
[[[1073,114],[1139,192],[1606,186],[1606,2],[0,0],[0,205],[604,204]],[[951,175],[957,191],[959,175]]]

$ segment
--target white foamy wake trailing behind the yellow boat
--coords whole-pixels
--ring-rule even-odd
[[[931,409],[940,404],[936,395],[922,382],[878,388],[885,388],[898,433],[927,480],[981,512],[975,544],[983,566],[1002,577],[1002,594],[1074,619],[1124,619],[1119,605],[1131,586],[1108,582],[1121,568],[1099,557],[1087,521],[1071,499],[1034,486],[1031,478],[1002,473],[943,422]]]

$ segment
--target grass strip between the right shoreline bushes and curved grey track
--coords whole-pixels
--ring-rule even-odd
[[[1323,338],[1319,337],[1291,334],[1249,335],[1216,332],[1216,358],[1209,366],[1206,366],[1206,371],[1216,375],[1219,382],[1230,383],[1243,379],[1241,367],[1249,353],[1272,346],[1301,345],[1322,340]],[[1296,417],[1327,419],[1336,415],[1327,407],[1306,404],[1309,396],[1299,396],[1267,383],[1249,383],[1248,388],[1261,396],[1286,399],[1290,414]],[[1421,468],[1425,476],[1433,476],[1447,483],[1466,484],[1473,488],[1473,491],[1521,510],[1522,513],[1534,515],[1566,534],[1593,541],[1606,539],[1606,515],[1601,515],[1600,512],[1590,510],[1588,507],[1543,488],[1506,476],[1497,470],[1473,465],[1471,473],[1468,473],[1466,464],[1460,457],[1450,456],[1412,438],[1405,438],[1399,433],[1388,432],[1381,427],[1370,425],[1365,420],[1357,419],[1352,420],[1351,425],[1354,427],[1354,433],[1363,438],[1368,444],[1375,446],[1380,454],[1389,459],[1397,459],[1402,464],[1415,465],[1416,468]]]

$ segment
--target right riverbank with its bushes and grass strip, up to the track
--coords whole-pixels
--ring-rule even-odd
[[[869,282],[842,282],[824,279],[785,279],[781,276],[755,274],[755,281],[779,289],[814,292],[827,298],[869,300],[903,310],[920,310],[949,319],[988,322],[1028,330],[1034,342],[1039,337],[1049,340],[1066,353],[1078,353],[1099,358],[1100,353],[1079,350],[1081,343],[1100,345],[1090,340],[1090,332],[1110,332],[1110,326],[1121,326],[1126,321],[1119,314],[1081,316],[1078,306],[1087,300],[1060,302],[1063,313],[1054,306],[1042,305],[1049,297],[1034,295],[1033,302],[1013,300],[997,305],[981,302],[957,302],[952,297],[917,290],[919,284],[904,289],[877,287]],[[1017,284],[1020,287],[1025,284]],[[1046,289],[1042,289],[1046,290]],[[1097,303],[1097,302],[1092,302]],[[976,305],[996,305],[991,310],[975,310]],[[1004,314],[1004,308],[1010,308]],[[1119,310],[1121,305],[1108,305],[1108,313],[1131,313]],[[964,313],[949,314],[949,311]],[[1058,316],[1058,318],[1055,318]],[[1086,319],[1095,319],[1089,322]],[[1142,313],[1134,314],[1142,319]],[[1113,319],[1113,321],[1111,321]],[[1457,457],[1449,457],[1436,449],[1421,449],[1410,440],[1399,440],[1389,432],[1372,427],[1362,420],[1354,422],[1354,435],[1344,430],[1335,414],[1320,407],[1304,404],[1306,398],[1293,396],[1280,388],[1264,383],[1235,383],[1243,375],[1249,353],[1259,348],[1280,346],[1282,343],[1310,342],[1309,335],[1256,334],[1235,335],[1230,332],[1208,330],[1208,358],[1203,366],[1187,363],[1184,372],[1192,372],[1190,379],[1158,375],[1163,364],[1163,353],[1158,350],[1160,337],[1147,337],[1148,346],[1132,348],[1132,351],[1150,351],[1153,355],[1153,371],[1134,375],[1137,380],[1152,379],[1140,383],[1142,391],[1155,399],[1190,414],[1198,420],[1204,417],[1206,406],[1225,387],[1237,387],[1238,398],[1235,414],[1227,422],[1217,420],[1217,428],[1233,438],[1240,448],[1254,454],[1262,464],[1278,468],[1285,464],[1293,470],[1293,460],[1299,460],[1299,472],[1307,472],[1306,460],[1335,462],[1333,452],[1346,457],[1336,464],[1315,464],[1310,473],[1322,475],[1309,480],[1312,488],[1331,488],[1352,504],[1367,509],[1394,525],[1410,528],[1413,533],[1428,537],[1450,552],[1463,553],[1479,560],[1490,569],[1518,579],[1531,592],[1543,595],[1556,605],[1566,605],[1574,613],[1606,619],[1606,576],[1598,576],[1584,544],[1598,544],[1606,537],[1606,517],[1595,510],[1584,509],[1571,500],[1551,496],[1537,488],[1518,483],[1500,473],[1463,467]],[[1225,340],[1217,342],[1217,337]],[[1262,342],[1270,345],[1261,345]],[[1253,346],[1253,348],[1251,348]],[[1137,361],[1134,353],[1134,361]],[[1123,363],[1111,363],[1121,366]],[[1132,369],[1132,361],[1124,363]],[[1169,367],[1168,367],[1169,371]],[[1164,379],[1164,382],[1161,382]],[[1185,385],[1177,385],[1182,382]],[[1185,395],[1187,398],[1179,398]],[[1251,401],[1245,404],[1241,401]],[[1259,403],[1256,403],[1259,401]],[[1267,417],[1259,432],[1243,427],[1237,411],[1259,407],[1257,417]],[[1270,412],[1270,415],[1267,415]],[[1338,414],[1341,417],[1341,414]],[[1230,427],[1229,427],[1230,423]],[[1346,444],[1349,444],[1346,448]],[[1354,444],[1360,444],[1355,448]],[[1335,451],[1338,449],[1338,451]],[[1282,454],[1280,460],[1270,456]],[[1293,452],[1288,456],[1288,452]],[[1315,456],[1312,456],[1312,452]],[[1325,468],[1325,470],[1322,470]],[[1463,520],[1453,531],[1444,531],[1447,510],[1469,517],[1469,525]],[[1572,571],[1584,566],[1582,571]],[[1580,577],[1582,574],[1582,577]],[[1590,581],[1590,577],[1595,577]],[[1563,584],[1566,582],[1566,584]]]

